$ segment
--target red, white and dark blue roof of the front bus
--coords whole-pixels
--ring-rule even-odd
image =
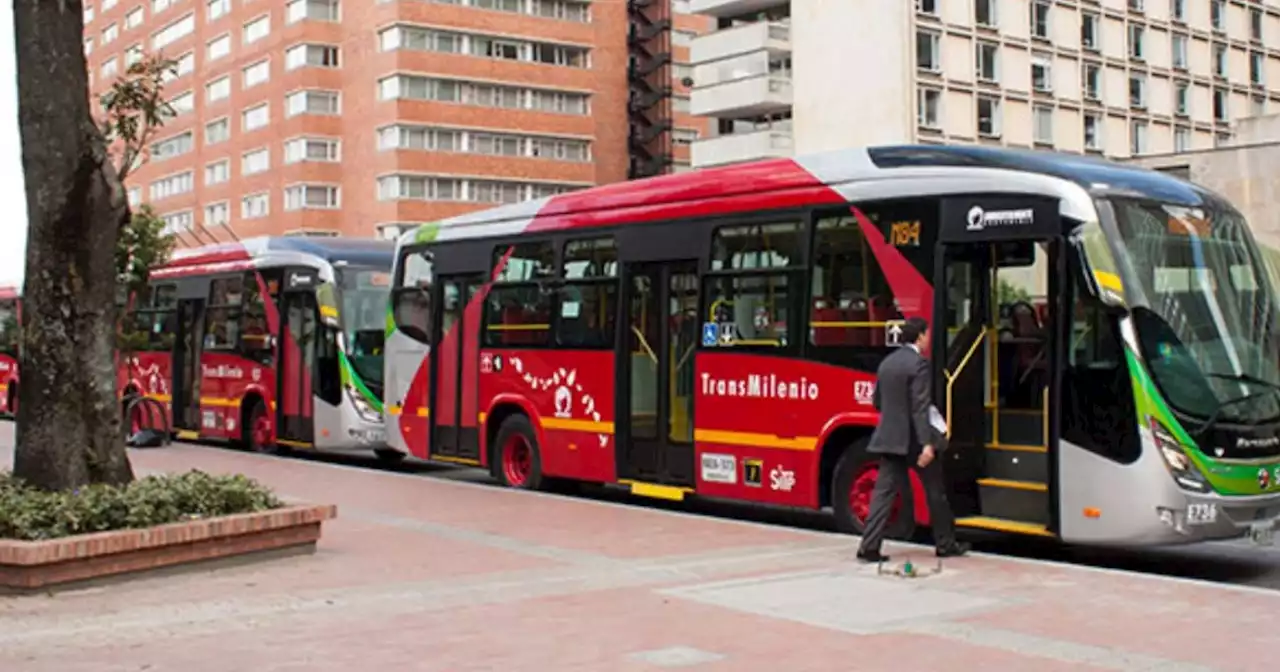
[[[399,244],[840,205],[864,198],[1019,191],[1042,191],[1070,201],[1062,210],[1076,218],[1093,211],[1088,201],[1097,196],[1125,195],[1188,206],[1224,202],[1208,189],[1172,175],[1091,156],[899,145],[603,184],[424,224],[402,236]]]

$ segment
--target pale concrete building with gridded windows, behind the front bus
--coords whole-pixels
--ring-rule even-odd
[[[1276,0],[691,0],[695,165],[886,142],[1206,150],[1280,104]]]

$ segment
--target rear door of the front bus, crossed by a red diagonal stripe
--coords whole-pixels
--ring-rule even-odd
[[[480,460],[480,312],[485,276],[442,275],[435,283],[431,324],[431,457]]]

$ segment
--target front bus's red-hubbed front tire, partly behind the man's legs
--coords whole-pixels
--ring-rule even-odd
[[[868,453],[865,442],[845,448],[831,484],[831,508],[836,516],[836,529],[841,532],[860,536],[867,531],[867,513],[878,472],[879,456]],[[915,535],[913,502],[911,485],[908,484],[893,504],[895,511],[886,531],[888,539],[908,540]]]

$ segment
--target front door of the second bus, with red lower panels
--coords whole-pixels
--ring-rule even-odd
[[[312,269],[288,269],[280,292],[280,334],[275,376],[276,443],[310,448],[315,443],[316,344],[321,338]]]

